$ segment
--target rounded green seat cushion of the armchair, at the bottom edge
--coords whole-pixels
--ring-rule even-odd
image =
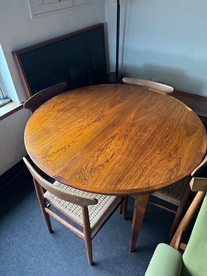
[[[145,276],[180,276],[182,255],[175,248],[158,244]]]

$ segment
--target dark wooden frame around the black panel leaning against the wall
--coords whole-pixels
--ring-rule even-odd
[[[27,97],[28,98],[31,97],[32,96],[32,92],[30,90],[30,87],[29,87],[29,84],[28,84],[28,81],[27,81],[27,77],[26,77],[26,74],[24,72],[24,69],[23,69],[23,66],[22,66],[22,63],[21,63],[19,55],[21,55],[23,53],[26,53],[28,51],[32,51],[32,50],[41,48],[43,46],[46,46],[46,45],[49,45],[49,44],[52,44],[52,43],[64,40],[66,38],[69,38],[69,37],[72,37],[72,36],[75,36],[75,35],[78,35],[78,34],[81,34],[81,33],[84,33],[84,32],[90,31],[90,30],[93,30],[95,28],[99,28],[99,27],[103,27],[105,72],[107,74],[107,59],[106,59],[106,47],[105,47],[104,23],[99,23],[99,24],[96,24],[96,25],[93,25],[93,26],[90,26],[90,27],[87,27],[87,28],[84,28],[84,29],[72,32],[72,33],[68,33],[68,34],[65,34],[65,35],[62,35],[62,36],[59,36],[59,37],[55,37],[55,38],[52,38],[52,39],[49,39],[49,40],[46,40],[46,41],[43,41],[43,42],[31,45],[31,46],[28,46],[28,47],[25,47],[25,48],[22,48],[22,49],[19,49],[19,50],[13,51],[12,55],[13,55],[13,58],[14,58],[14,61],[15,61],[18,73],[20,75],[21,81],[23,83],[23,87],[24,87],[24,90],[26,92]]]

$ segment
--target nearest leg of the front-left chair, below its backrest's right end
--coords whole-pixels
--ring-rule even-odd
[[[93,253],[92,253],[92,238],[91,238],[91,227],[89,220],[88,207],[82,207],[83,212],[83,228],[84,228],[84,239],[86,243],[86,252],[88,256],[89,265],[93,265]]]

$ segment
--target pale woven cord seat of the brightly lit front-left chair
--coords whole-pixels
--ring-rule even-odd
[[[68,185],[59,183],[57,181],[54,182],[54,185],[60,188],[69,190],[71,192],[77,192],[80,194],[95,197],[98,200],[98,203],[96,205],[88,206],[90,226],[91,226],[92,232],[97,228],[97,226],[103,220],[105,215],[111,210],[111,208],[120,199],[120,196],[91,193],[91,192],[79,190],[76,188],[72,188]],[[44,196],[48,203],[50,203],[57,210],[59,210],[64,215],[66,215],[67,217],[69,217],[70,219],[72,219],[77,224],[83,227],[82,207],[80,205],[73,204],[71,202],[60,199],[48,191],[46,191]]]

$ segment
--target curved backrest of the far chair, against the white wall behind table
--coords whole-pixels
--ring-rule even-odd
[[[123,78],[122,82],[124,84],[128,85],[140,85],[140,86],[146,86],[151,89],[157,90],[159,92],[164,92],[166,94],[171,93],[174,91],[174,88],[171,86],[167,86],[161,83],[156,83],[152,81],[147,80],[141,80],[141,79],[133,79],[133,78]]]

